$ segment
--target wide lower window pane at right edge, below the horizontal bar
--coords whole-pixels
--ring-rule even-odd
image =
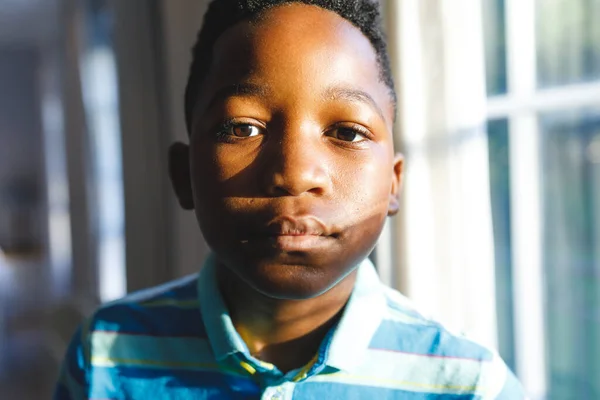
[[[600,109],[540,116],[550,399],[600,398]]]

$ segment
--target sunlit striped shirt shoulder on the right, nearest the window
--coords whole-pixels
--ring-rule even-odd
[[[409,386],[450,392],[460,389],[483,398],[522,398],[499,396],[521,392],[495,350],[425,316],[396,290],[385,287],[383,297],[381,323],[371,339],[361,373],[401,380]]]

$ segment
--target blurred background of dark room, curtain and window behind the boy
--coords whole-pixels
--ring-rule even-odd
[[[206,0],[0,0],[0,397],[82,318],[194,273],[166,149]],[[373,254],[532,399],[600,399],[600,0],[382,0],[407,159]]]

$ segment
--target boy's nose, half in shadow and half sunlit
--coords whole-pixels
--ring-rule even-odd
[[[268,196],[322,196],[329,190],[331,179],[321,138],[286,132],[267,146],[260,178]]]

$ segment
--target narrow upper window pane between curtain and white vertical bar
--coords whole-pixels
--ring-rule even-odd
[[[507,80],[504,0],[483,1],[483,29],[488,96],[505,94]]]

